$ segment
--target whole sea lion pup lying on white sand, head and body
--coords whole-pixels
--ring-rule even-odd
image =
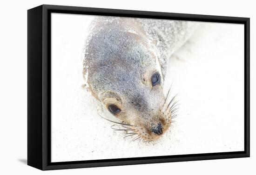
[[[85,87],[120,119],[128,136],[152,141],[168,130],[176,109],[163,93],[167,61],[193,28],[188,21],[123,17],[96,17],[91,23]]]

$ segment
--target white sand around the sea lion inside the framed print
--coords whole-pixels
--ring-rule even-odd
[[[52,162],[242,151],[243,25],[202,23],[168,63],[179,117],[154,144],[131,142],[81,88],[86,15],[52,16]],[[102,115],[116,120],[105,111]]]

